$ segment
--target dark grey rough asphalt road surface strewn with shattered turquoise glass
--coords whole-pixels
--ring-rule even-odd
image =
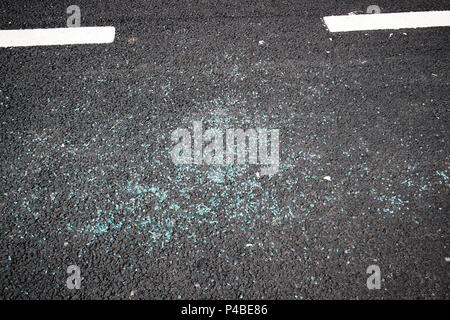
[[[2,1],[0,29],[72,2]],[[449,298],[448,28],[322,23],[369,1],[76,4],[113,44],[0,49],[0,298]],[[174,165],[195,120],[280,129],[279,173]]]

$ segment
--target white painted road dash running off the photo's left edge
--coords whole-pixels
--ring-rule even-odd
[[[111,43],[114,27],[0,30],[0,47]]]

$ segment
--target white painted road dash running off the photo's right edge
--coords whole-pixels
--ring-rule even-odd
[[[449,27],[450,11],[329,16],[323,19],[330,32]]]

